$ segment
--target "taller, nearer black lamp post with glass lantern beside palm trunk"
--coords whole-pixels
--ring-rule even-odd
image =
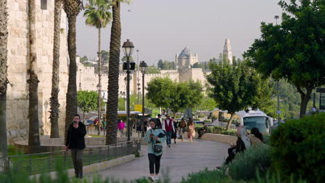
[[[126,42],[123,43],[122,49],[126,56],[126,121],[128,123],[128,141],[130,141],[130,57],[134,49],[133,43],[130,42],[130,40],[126,40]]]

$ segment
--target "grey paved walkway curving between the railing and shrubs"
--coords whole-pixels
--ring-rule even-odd
[[[142,146],[144,156],[136,158],[119,166],[97,172],[99,176],[114,177],[118,180],[135,180],[149,176],[149,160],[147,146]],[[160,162],[160,174],[169,169],[169,178],[172,182],[181,182],[182,177],[189,173],[199,172],[204,168],[214,169],[221,166],[226,159],[228,144],[215,141],[178,141],[171,148],[164,146],[163,157]],[[86,175],[92,177],[92,173]]]

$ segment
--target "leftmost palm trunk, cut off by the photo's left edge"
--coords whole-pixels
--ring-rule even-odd
[[[6,95],[7,95],[7,58],[8,58],[8,12],[7,1],[0,1],[0,164],[8,165]]]

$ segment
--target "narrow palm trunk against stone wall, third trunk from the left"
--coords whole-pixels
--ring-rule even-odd
[[[61,0],[56,0],[54,6],[54,35],[53,35],[53,65],[52,65],[52,91],[50,98],[51,105],[51,136],[58,138],[58,112],[60,103],[58,102],[59,76],[60,76],[60,24],[61,24]]]

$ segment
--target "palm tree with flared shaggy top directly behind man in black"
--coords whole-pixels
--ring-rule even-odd
[[[69,53],[69,82],[67,88],[67,105],[65,107],[65,138],[67,129],[71,124],[74,114],[77,113],[77,92],[76,92],[76,17],[83,9],[81,0],[63,0],[63,9],[68,20],[68,53]]]

